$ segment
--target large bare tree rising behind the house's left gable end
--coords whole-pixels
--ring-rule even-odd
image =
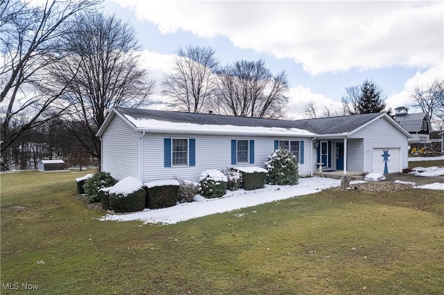
[[[133,28],[115,16],[85,13],[76,18],[62,45],[69,56],[53,67],[63,98],[71,105],[67,127],[93,157],[101,158],[96,132],[112,107],[150,105],[155,81],[139,66]],[[67,80],[67,77],[74,76]]]

